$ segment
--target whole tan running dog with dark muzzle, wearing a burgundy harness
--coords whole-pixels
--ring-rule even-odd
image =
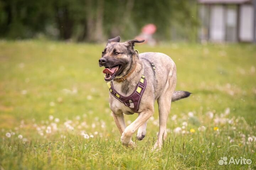
[[[153,149],[161,148],[167,136],[166,121],[171,102],[190,96],[187,91],[175,91],[176,66],[167,55],[158,52],[140,53],[134,44],[144,40],[120,42],[120,37],[110,39],[100,58],[105,67],[105,81],[109,87],[110,108],[121,133],[123,145],[134,147],[132,135],[137,140],[146,134],[146,124],[154,113],[154,102],[159,106],[159,133]],[[138,118],[126,126],[123,114],[138,113]]]

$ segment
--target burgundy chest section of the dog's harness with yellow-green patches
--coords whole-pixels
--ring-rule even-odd
[[[146,79],[145,76],[142,75],[140,78],[140,81],[134,90],[134,92],[130,96],[122,96],[119,94],[113,87],[112,83],[108,82],[107,83],[111,95],[113,95],[115,98],[117,98],[120,102],[124,103],[127,107],[129,107],[133,112],[138,112],[139,111],[139,103],[140,99],[143,95],[143,92],[146,88]]]

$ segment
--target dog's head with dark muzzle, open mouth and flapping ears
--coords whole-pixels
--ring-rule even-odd
[[[138,60],[138,54],[133,49],[134,43],[144,41],[135,39],[120,42],[120,36],[108,40],[99,60],[100,67],[105,67],[103,70],[105,81],[122,78],[129,73]]]

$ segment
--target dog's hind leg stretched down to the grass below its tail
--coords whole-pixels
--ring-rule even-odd
[[[176,86],[176,74],[170,75],[169,80],[166,82],[166,86],[158,98],[158,107],[159,107],[159,132],[158,140],[156,141],[153,149],[161,148],[162,143],[167,136],[166,123],[168,114],[171,109],[171,97],[175,90]]]

